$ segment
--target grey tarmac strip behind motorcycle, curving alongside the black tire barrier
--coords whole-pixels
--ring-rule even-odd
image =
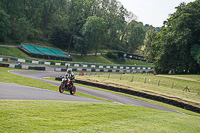
[[[60,85],[60,82],[44,80],[44,79],[42,79],[42,77],[57,77],[57,76],[62,76],[65,74],[65,72],[54,72],[54,71],[12,70],[10,72],[17,74],[17,75],[24,76],[24,77],[29,77],[32,79],[36,79],[39,81],[57,85],[57,86]],[[93,89],[80,87],[80,86],[76,86],[76,87],[77,87],[78,92],[96,96],[96,97],[100,97],[103,99],[107,99],[107,100],[110,100],[110,101],[113,101],[113,102],[119,103],[119,104],[136,105],[136,106],[149,107],[149,108],[153,108],[153,109],[165,110],[165,111],[170,111],[170,112],[177,112],[177,111],[174,111],[174,110],[162,107],[162,106],[158,106],[155,104],[151,104],[151,103],[148,103],[145,101],[137,100],[137,99],[122,96],[122,95],[108,93],[108,92],[104,92],[104,91],[100,91],[100,90],[93,90]],[[56,93],[58,93],[58,92],[56,92]],[[70,95],[66,95],[66,97],[68,97],[68,96],[70,96]],[[177,113],[180,113],[180,112],[177,112]]]

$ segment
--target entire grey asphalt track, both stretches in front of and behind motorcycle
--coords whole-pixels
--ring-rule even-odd
[[[54,72],[54,71],[23,71],[23,70],[11,70],[9,71],[13,74],[21,75],[24,77],[32,78],[42,82],[50,83],[59,87],[60,82],[50,81],[43,79],[44,77],[57,77],[63,76],[65,72]],[[83,102],[101,102],[94,99],[89,99],[80,96],[72,96],[69,92],[59,93],[56,91],[50,91],[46,89],[27,87],[15,84],[0,83],[0,99],[11,99],[11,100],[60,100],[60,101],[83,101]],[[113,93],[108,93],[100,90],[93,90],[85,87],[77,86],[77,91],[85,93],[88,95],[100,97],[114,103],[126,104],[126,105],[135,105],[148,107],[153,109],[159,109],[164,111],[181,113],[172,109],[168,109],[159,105],[134,99],[131,97],[126,97],[122,95],[117,95]],[[6,89],[5,89],[6,88]]]

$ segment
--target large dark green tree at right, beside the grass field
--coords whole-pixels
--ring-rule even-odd
[[[161,33],[152,42],[158,73],[200,73],[200,65],[191,55],[193,44],[200,44],[200,0],[180,4],[165,21]],[[193,51],[193,50],[192,50]]]

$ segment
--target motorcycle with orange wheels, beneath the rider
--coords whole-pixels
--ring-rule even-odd
[[[59,86],[59,92],[69,91],[71,95],[74,95],[76,93],[76,87],[73,85],[73,82],[69,78],[63,79]]]

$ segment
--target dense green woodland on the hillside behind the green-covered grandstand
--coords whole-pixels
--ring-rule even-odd
[[[132,53],[150,27],[117,0],[0,0],[0,16],[1,42],[50,42],[82,55],[104,47]]]

